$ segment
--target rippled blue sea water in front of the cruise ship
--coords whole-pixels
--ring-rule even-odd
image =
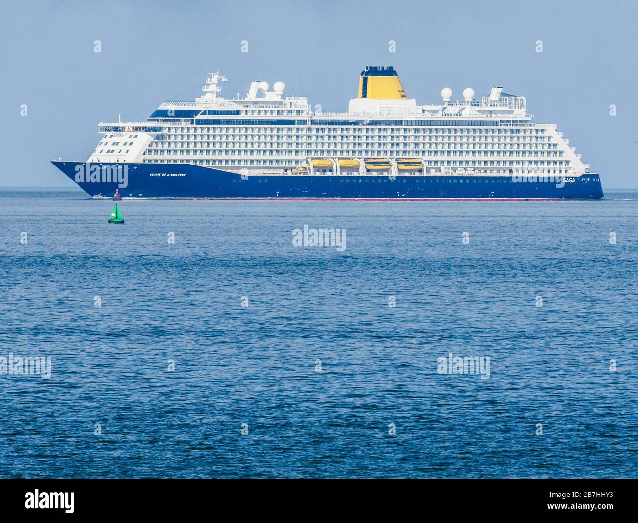
[[[638,475],[636,192],[0,203],[2,477]]]

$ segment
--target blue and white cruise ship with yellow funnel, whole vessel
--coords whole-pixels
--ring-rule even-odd
[[[225,81],[210,73],[202,96],[161,103],[146,121],[100,123],[88,160],[52,163],[95,198],[603,197],[556,125],[533,122],[524,96],[501,87],[480,100],[445,87],[419,105],[392,66],[367,66],[348,112],[322,112],[281,81],[224,98]]]

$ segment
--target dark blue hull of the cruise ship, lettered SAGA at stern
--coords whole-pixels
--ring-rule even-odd
[[[110,198],[115,181],[85,181],[77,171],[85,162],[52,162],[92,197]],[[91,163],[91,166],[114,164]],[[122,164],[119,164],[121,167]],[[512,176],[244,176],[191,163],[126,163],[122,197],[182,199],[558,199],[603,197],[598,174],[549,181],[518,181]],[[81,167],[78,167],[81,166]]]

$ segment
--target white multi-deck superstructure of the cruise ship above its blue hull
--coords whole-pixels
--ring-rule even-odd
[[[396,75],[383,68],[369,78],[386,70]],[[363,87],[348,112],[313,112],[306,98],[285,96],[283,82],[271,90],[256,80],[244,98],[223,98],[225,80],[211,73],[202,96],[164,102],[147,121],[100,123],[103,137],[89,161],[193,163],[281,175],[387,174],[397,165],[403,174],[438,176],[588,172],[556,125],[533,123],[525,98],[501,87],[480,101],[470,88],[454,101],[445,88],[434,105],[406,98],[402,87],[388,98],[366,96]]]

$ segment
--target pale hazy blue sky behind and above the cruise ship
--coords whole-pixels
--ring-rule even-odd
[[[253,79],[283,80],[294,95],[298,81],[327,111],[347,110],[360,71],[380,64],[394,65],[419,103],[438,103],[442,87],[454,98],[494,85],[526,96],[535,121],[558,124],[604,188],[638,187],[637,22],[628,1],[3,0],[0,186],[71,184],[48,160],[85,160],[99,121],[192,99],[210,71],[228,77],[226,96]]]

